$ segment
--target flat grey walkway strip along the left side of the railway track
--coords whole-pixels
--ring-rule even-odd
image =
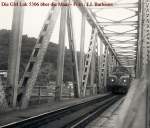
[[[24,110],[14,110],[11,112],[0,114],[0,126],[9,124],[12,122],[16,122],[19,120],[23,120],[32,116],[36,116],[42,113],[46,113],[48,111],[53,111],[53,110],[60,109],[63,107],[71,106],[76,103],[92,100],[96,97],[104,96],[104,95],[107,95],[107,94],[101,94],[101,95],[82,98],[82,99],[64,98],[60,102],[56,102],[54,101],[53,98],[51,98],[51,100],[49,100],[49,103],[46,103],[46,104],[32,105],[29,108],[24,109]]]

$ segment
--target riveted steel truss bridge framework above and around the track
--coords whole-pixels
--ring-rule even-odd
[[[65,2],[68,1],[65,0]],[[86,3],[83,0],[70,2],[83,5]],[[60,28],[57,37],[59,53],[55,100],[61,99],[66,35],[72,56],[73,89],[76,98],[85,97],[88,88],[92,88],[94,84],[96,84],[97,94],[104,93],[107,76],[115,66],[125,67],[135,78],[148,78],[150,0],[130,0],[129,2],[112,0],[112,3],[112,6],[76,6],[82,15],[81,28],[79,28],[81,30],[79,59],[77,59],[72,6],[52,6],[45,17],[45,22],[20,81],[18,79],[24,8],[15,7],[11,32],[12,42],[9,46],[8,82],[6,89],[1,88],[2,101],[10,107],[16,108],[17,97],[20,95],[21,108],[24,109],[28,106],[57,20],[60,20]],[[111,11],[114,12],[113,15],[110,15]],[[86,23],[91,27],[87,53],[84,52],[87,38],[85,35]]]

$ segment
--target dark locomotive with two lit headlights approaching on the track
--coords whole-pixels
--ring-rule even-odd
[[[124,67],[115,67],[107,80],[107,90],[115,94],[126,94],[130,86],[130,73]]]

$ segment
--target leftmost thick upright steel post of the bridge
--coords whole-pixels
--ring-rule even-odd
[[[16,0],[15,2],[24,2]],[[12,31],[9,43],[9,59],[8,59],[8,86],[7,90],[10,93],[7,100],[11,107],[16,107],[18,81],[19,81],[19,67],[22,45],[22,31],[23,31],[24,8],[14,7]],[[8,89],[9,88],[9,89]]]

